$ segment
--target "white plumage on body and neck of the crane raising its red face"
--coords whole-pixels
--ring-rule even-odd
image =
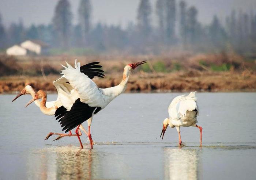
[[[61,71],[63,76],[67,78],[70,85],[74,90],[70,93],[69,101],[72,104],[75,102],[76,99],[80,98],[82,103],[88,104],[90,107],[101,107],[102,109],[105,108],[115,97],[120,95],[122,92],[125,91],[125,85],[120,83],[119,85],[111,88],[98,88],[98,86],[91,80],[88,76],[80,72],[80,63],[76,63],[75,61],[75,68],[67,63],[67,66],[63,66],[65,69]],[[131,66],[127,65],[124,68],[124,73],[128,74],[131,71]],[[60,101],[67,110],[70,110],[72,107],[71,103],[66,103],[66,100],[63,97],[60,97]]]

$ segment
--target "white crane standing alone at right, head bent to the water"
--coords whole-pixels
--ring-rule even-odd
[[[203,128],[197,126],[197,115],[199,114],[199,108],[196,104],[196,92],[189,93],[188,96],[181,95],[175,97],[169,108],[169,118],[163,120],[163,129],[160,137],[165,134],[168,125],[171,128],[176,127],[179,135],[179,145],[181,145],[180,126],[189,127],[194,126],[200,130],[200,146],[202,146],[202,132]],[[163,137],[162,137],[163,140]]]

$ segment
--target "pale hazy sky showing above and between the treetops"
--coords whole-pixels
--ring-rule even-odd
[[[80,0],[69,0],[73,12],[73,23],[77,23],[77,9]],[[155,15],[155,2],[150,0]],[[31,23],[48,24],[53,17],[58,0],[0,0],[0,14],[5,25],[23,19],[25,26]],[[176,0],[176,2],[179,2]],[[136,21],[139,0],[91,0],[93,22],[121,24]],[[200,22],[209,23],[214,14],[224,19],[232,9],[250,11],[256,9],[256,0],[187,0],[188,5],[195,5],[199,11]],[[155,24],[155,18],[153,19]]]

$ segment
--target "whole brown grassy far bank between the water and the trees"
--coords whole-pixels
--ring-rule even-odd
[[[60,64],[67,61],[74,64],[77,58],[81,64],[100,61],[105,71],[105,78],[95,78],[101,88],[112,87],[120,83],[125,65],[131,62],[148,60],[151,65],[161,62],[166,71],[143,72],[138,68],[129,79],[127,92],[131,91],[256,91],[255,62],[245,62],[242,57],[233,54],[183,54],[174,57],[165,56],[54,56],[54,57],[0,57],[0,93],[21,91],[25,85],[35,89],[54,92],[52,81],[60,77]],[[231,69],[226,72],[214,72],[210,66],[200,62],[221,65],[230,63]],[[148,63],[148,64],[149,64]],[[174,71],[175,63],[181,64],[180,71]],[[42,76],[41,67],[45,77]],[[15,74],[11,75],[10,74]],[[9,75],[9,76],[8,76]]]

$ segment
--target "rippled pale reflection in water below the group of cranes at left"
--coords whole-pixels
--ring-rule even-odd
[[[29,156],[28,179],[91,179],[97,152],[74,146],[45,148]],[[96,168],[97,169],[97,168]]]

